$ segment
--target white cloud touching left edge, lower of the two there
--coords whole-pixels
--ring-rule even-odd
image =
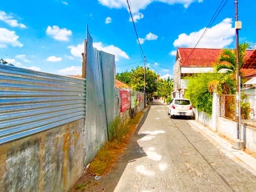
[[[15,31],[9,31],[5,28],[0,28],[0,48],[6,48],[7,45],[12,45],[13,47],[22,47],[18,41],[19,36],[15,34]]]

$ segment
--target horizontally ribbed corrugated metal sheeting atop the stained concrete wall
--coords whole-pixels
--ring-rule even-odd
[[[85,81],[0,65],[0,144],[84,118]]]

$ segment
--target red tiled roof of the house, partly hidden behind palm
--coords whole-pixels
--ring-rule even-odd
[[[180,67],[212,67],[217,63],[223,49],[178,48]],[[252,50],[246,51],[246,57],[252,55]],[[247,60],[247,59],[246,59]]]

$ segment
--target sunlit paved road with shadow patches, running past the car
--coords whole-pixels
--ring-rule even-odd
[[[188,122],[170,119],[163,104],[150,106],[115,192],[256,191],[255,175]]]

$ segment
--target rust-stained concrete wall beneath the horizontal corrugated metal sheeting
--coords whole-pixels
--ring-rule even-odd
[[[83,174],[84,119],[0,146],[0,191],[68,191]]]

